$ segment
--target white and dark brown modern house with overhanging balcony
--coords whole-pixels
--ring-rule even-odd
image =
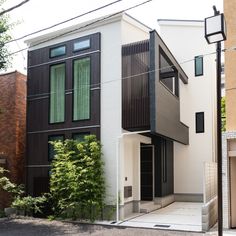
[[[199,39],[202,22],[196,29]],[[171,40],[180,37],[177,30]],[[215,161],[214,59],[201,57],[208,50],[203,41],[196,39],[193,51],[181,39],[175,47],[170,41],[172,51],[124,13],[27,40],[28,192],[48,190],[50,140],[96,134],[107,204],[117,204],[117,218],[145,210],[143,201],[203,202],[204,163]],[[195,57],[195,67],[182,67],[183,55]]]

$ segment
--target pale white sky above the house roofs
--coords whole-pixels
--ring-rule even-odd
[[[10,33],[15,39],[113,1],[115,0],[30,0],[28,3],[10,12],[10,22],[17,24]],[[121,0],[112,6],[70,21],[52,30],[121,11],[144,1]],[[20,2],[22,0],[6,0],[3,8],[7,9]],[[127,13],[158,31],[157,19],[204,20],[205,17],[213,15],[213,5],[216,5],[217,9],[223,12],[223,0],[152,0],[127,11]],[[41,34],[46,32],[48,31]],[[15,52],[25,48],[27,46],[24,44],[25,39],[8,44],[10,51]],[[27,50],[14,55],[10,70],[17,69],[26,73],[26,68]]]

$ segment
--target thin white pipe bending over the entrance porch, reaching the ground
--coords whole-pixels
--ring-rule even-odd
[[[129,133],[122,133],[120,136],[117,138],[117,143],[116,143],[116,223],[118,224],[119,222],[119,159],[120,159],[120,140],[124,136],[128,135],[134,135],[134,134],[142,134],[142,133],[149,133],[151,130],[144,130],[144,131],[137,131],[137,132],[129,132]]]

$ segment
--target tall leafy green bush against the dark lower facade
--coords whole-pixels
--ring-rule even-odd
[[[57,216],[95,220],[104,207],[105,182],[101,145],[96,136],[84,141],[52,142],[50,193]]]

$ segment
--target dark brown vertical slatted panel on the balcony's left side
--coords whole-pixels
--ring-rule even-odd
[[[149,42],[122,47],[122,128],[150,128]]]

